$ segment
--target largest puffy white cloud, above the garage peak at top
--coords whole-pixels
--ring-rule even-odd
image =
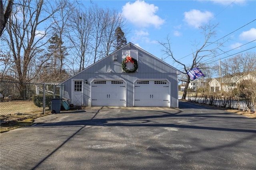
[[[145,1],[137,0],[134,3],[126,3],[122,7],[124,17],[139,27],[148,27],[150,25],[159,28],[164,20],[156,15],[158,10],[154,4],[148,4]]]

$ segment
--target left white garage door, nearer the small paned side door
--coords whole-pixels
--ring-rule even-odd
[[[92,106],[126,106],[126,84],[122,80],[94,80]]]

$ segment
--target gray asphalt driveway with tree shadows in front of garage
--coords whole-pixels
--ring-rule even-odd
[[[1,170],[256,168],[256,119],[180,102],[88,108],[0,134]]]

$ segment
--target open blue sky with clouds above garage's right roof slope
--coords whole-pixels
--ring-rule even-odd
[[[216,59],[222,59],[251,47],[254,48],[246,51],[256,52],[256,41],[251,42],[256,40],[255,0],[92,0],[92,2],[102,8],[114,8],[122,13],[130,29],[125,35],[127,42],[138,45],[158,58],[166,57],[161,52],[162,47],[158,41],[163,42],[169,35],[174,57],[180,59],[182,63],[191,63],[192,50],[196,50],[193,45],[196,42],[200,46],[204,42],[204,35],[198,26],[209,22],[219,24],[213,40],[224,36],[231,38],[225,43],[224,51],[243,45],[228,54],[219,55]],[[88,0],[84,0],[83,3],[85,6],[90,6]],[[244,45],[246,43],[248,44]],[[164,61],[182,69],[170,59]]]

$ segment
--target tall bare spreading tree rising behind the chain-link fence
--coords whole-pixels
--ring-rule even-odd
[[[47,3],[47,4],[45,4]],[[15,63],[16,78],[20,82],[20,94],[26,94],[26,82],[36,77],[45,62],[40,60],[44,45],[48,42],[52,22],[47,22],[60,8],[43,0],[19,0],[13,7],[8,27],[2,40],[10,47]],[[36,60],[36,65],[31,61]],[[34,71],[34,72],[33,72]],[[33,72],[33,73],[32,73]],[[26,96],[21,96],[26,98]]]

